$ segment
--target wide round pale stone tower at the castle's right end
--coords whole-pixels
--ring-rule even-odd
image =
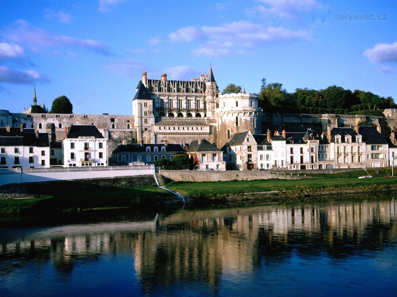
[[[262,132],[262,108],[258,107],[258,95],[255,93],[231,93],[219,96],[219,108],[216,109],[218,129],[217,145],[222,147],[234,133],[250,130],[252,134]]]

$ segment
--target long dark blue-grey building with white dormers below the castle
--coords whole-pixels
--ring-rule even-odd
[[[130,162],[145,162],[147,164],[154,164],[158,159],[172,160],[172,157],[178,153],[185,152],[183,143],[168,144],[164,143],[143,143],[141,144],[127,144],[124,139],[121,145],[118,145],[112,152],[112,164],[126,165]]]

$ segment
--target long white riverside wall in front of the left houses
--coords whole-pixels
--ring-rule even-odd
[[[0,185],[154,174],[154,165],[107,167],[0,168]]]

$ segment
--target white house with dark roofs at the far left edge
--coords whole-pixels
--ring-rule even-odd
[[[0,168],[50,167],[48,133],[33,129],[0,128]]]

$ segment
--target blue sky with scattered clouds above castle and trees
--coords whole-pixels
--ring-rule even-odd
[[[397,98],[395,1],[0,2],[0,109],[66,95],[74,113],[132,114],[142,72],[208,72],[260,90],[336,84]]]

